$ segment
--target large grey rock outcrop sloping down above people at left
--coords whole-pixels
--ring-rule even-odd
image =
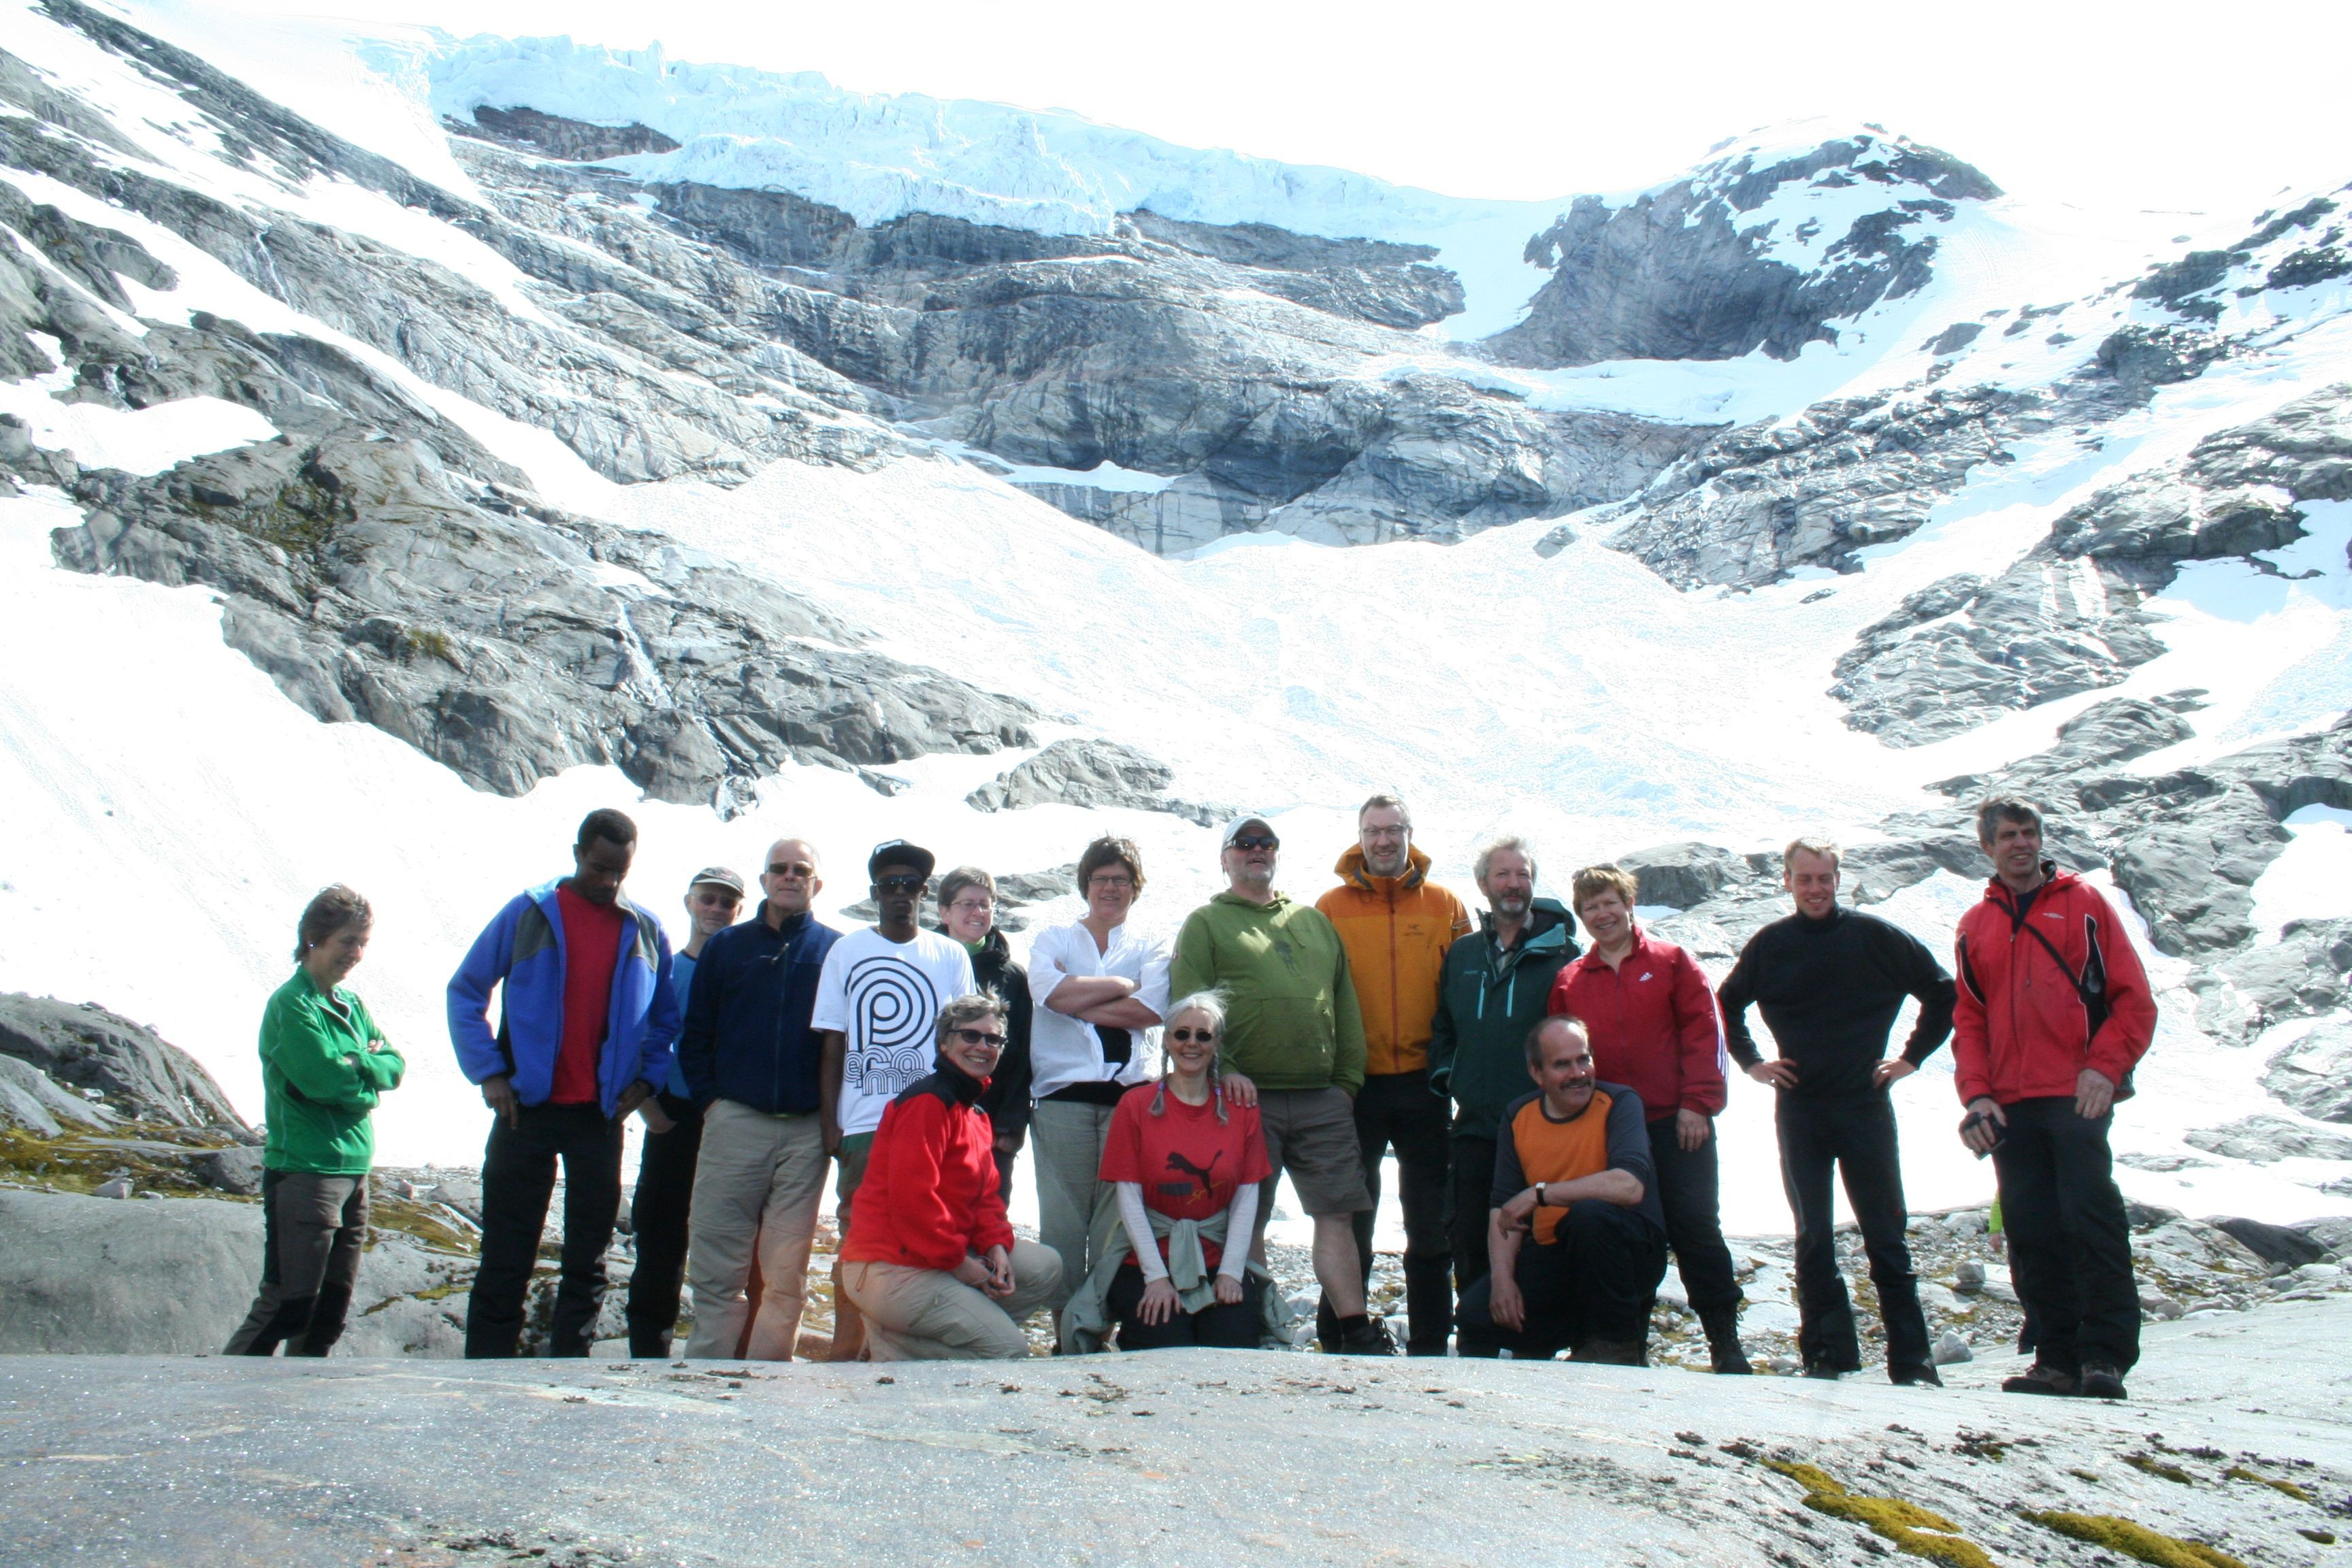
[[[835,646],[856,632],[797,595],[454,475],[419,442],[346,425],[153,480],[89,473],[75,496],[61,564],[226,590],[223,635],[289,698],[477,788],[607,762],[708,802],[786,759],[1028,743],[1023,703]]]

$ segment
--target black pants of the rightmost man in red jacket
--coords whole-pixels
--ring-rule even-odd
[[[2140,1291],[2107,1150],[2114,1117],[2077,1117],[2072,1095],[2018,1100],[2002,1114],[2009,1131],[1992,1168],[2009,1272],[2039,1331],[2034,1359],[2074,1375],[2093,1363],[2129,1373],[2140,1359]]]

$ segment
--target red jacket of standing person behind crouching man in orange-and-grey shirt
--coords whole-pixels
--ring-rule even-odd
[[[1592,1037],[1592,1072],[1642,1095],[1651,1121],[1677,1110],[1724,1107],[1724,1025],[1698,959],[1632,929],[1616,969],[1595,947],[1552,980],[1552,1013],[1573,1013]]]

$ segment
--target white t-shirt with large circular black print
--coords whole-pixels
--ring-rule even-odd
[[[894,943],[866,926],[833,943],[809,1027],[840,1030],[847,1039],[842,1133],[882,1126],[882,1107],[931,1072],[938,1009],[974,990],[971,954],[938,931]]]

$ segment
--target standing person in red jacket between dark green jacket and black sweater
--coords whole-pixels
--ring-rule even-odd
[[[1569,884],[1592,952],[1559,971],[1552,1013],[1592,1039],[1592,1072],[1642,1098],[1649,1152],[1665,1206],[1665,1239],[1691,1309],[1708,1331],[1717,1373],[1745,1373],[1740,1281],[1717,1218],[1715,1112],[1724,1107],[1724,1030],[1698,961],[1632,917],[1637,882],[1588,865]]]

